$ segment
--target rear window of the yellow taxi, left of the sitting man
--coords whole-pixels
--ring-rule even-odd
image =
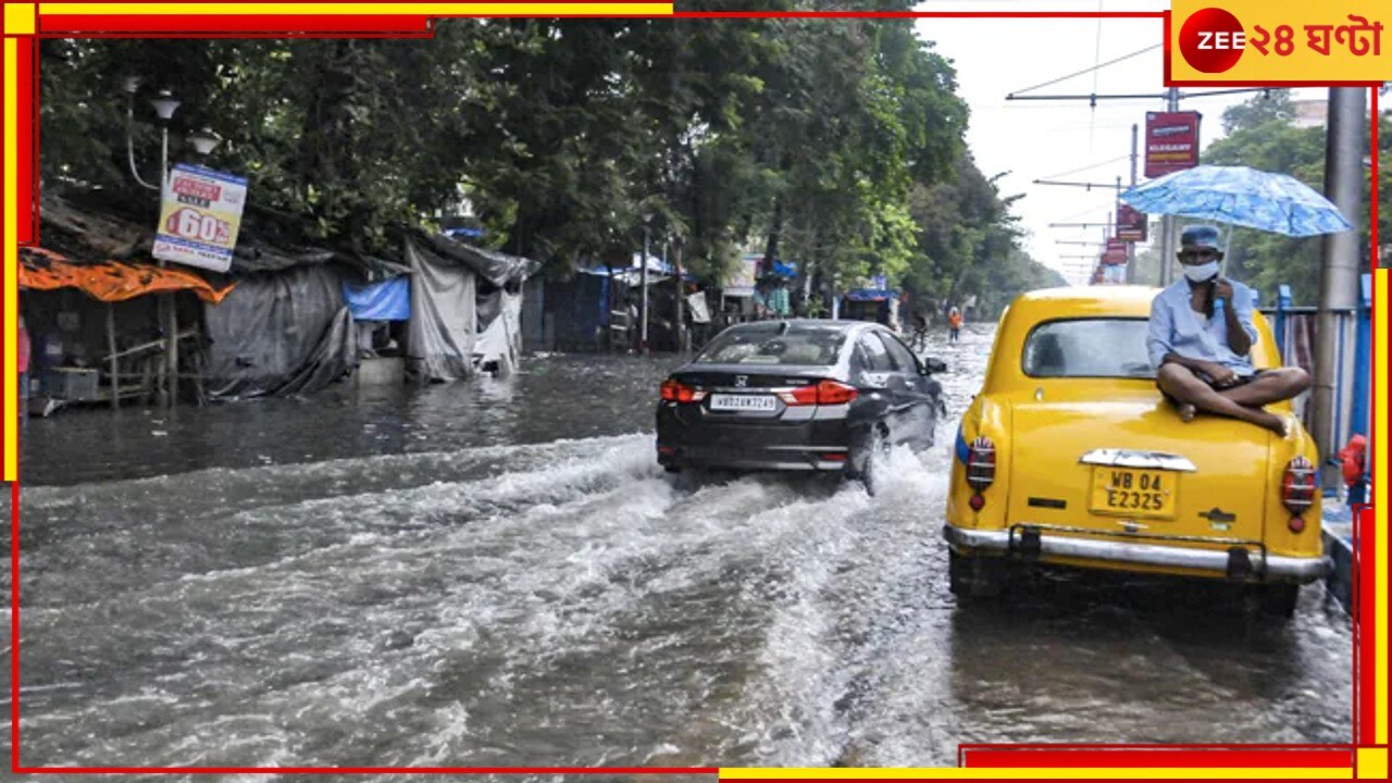
[[[1086,318],[1041,323],[1025,339],[1030,378],[1155,378],[1146,319]]]

